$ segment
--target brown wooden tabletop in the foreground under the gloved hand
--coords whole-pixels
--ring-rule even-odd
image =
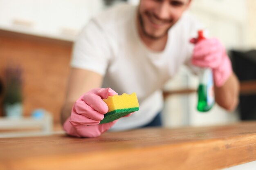
[[[0,170],[216,170],[256,160],[256,122],[0,139]]]

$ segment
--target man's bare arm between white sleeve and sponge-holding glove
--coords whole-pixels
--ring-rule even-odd
[[[73,104],[84,93],[101,87],[103,77],[99,73],[72,68],[68,79],[67,94],[61,110],[61,124],[71,115]]]

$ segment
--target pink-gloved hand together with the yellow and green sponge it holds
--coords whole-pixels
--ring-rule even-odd
[[[118,96],[111,88],[94,88],[75,102],[63,128],[72,136],[97,137],[120,117],[130,116],[137,110],[139,103],[135,93]]]

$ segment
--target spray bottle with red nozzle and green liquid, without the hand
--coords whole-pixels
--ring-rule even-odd
[[[197,42],[205,39],[204,32],[198,31]],[[198,86],[198,106],[200,112],[211,110],[215,103],[213,91],[213,74],[211,68],[200,68],[199,86]]]

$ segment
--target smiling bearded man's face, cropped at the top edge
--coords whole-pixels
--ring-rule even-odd
[[[141,0],[139,26],[144,35],[159,39],[167,34],[189,7],[191,0]]]

